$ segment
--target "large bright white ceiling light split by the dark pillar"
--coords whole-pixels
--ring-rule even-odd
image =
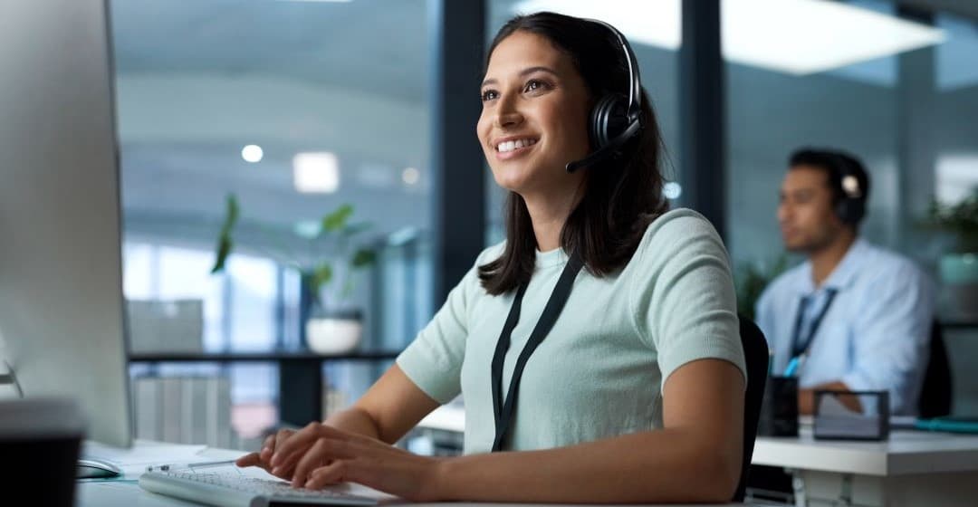
[[[676,50],[682,43],[681,0],[525,0],[519,13],[555,11],[595,18],[630,41]],[[943,30],[824,0],[723,0],[724,57],[795,75],[939,44]]]

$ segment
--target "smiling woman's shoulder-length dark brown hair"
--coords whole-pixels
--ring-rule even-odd
[[[627,57],[607,27],[555,13],[517,16],[500,28],[489,47],[486,67],[503,39],[516,31],[543,36],[568,55],[584,78],[591,104],[608,93],[628,94]],[[642,133],[622,155],[583,169],[585,191],[560,232],[560,246],[577,252],[593,275],[610,275],[639,247],[645,229],[669,208],[662,195],[662,138],[655,113],[642,91]],[[587,125],[581,125],[587,128]],[[506,204],[506,249],[479,266],[486,292],[498,295],[528,282],[536,262],[537,241],[526,203],[511,191]]]

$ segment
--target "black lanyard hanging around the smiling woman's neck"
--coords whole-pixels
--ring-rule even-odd
[[[571,255],[567,261],[567,265],[563,268],[563,272],[560,273],[560,277],[556,280],[556,287],[554,287],[554,292],[551,293],[550,299],[547,300],[544,313],[540,316],[540,320],[537,321],[533,332],[530,333],[530,338],[526,341],[523,352],[519,353],[519,359],[516,359],[516,365],[513,367],[512,379],[510,380],[510,392],[504,404],[502,398],[503,361],[506,359],[506,352],[510,349],[512,329],[516,327],[516,322],[519,321],[519,308],[523,303],[523,294],[526,292],[527,283],[521,283],[519,288],[516,289],[516,297],[512,300],[510,317],[506,318],[503,332],[499,335],[499,341],[496,342],[496,354],[492,357],[492,401],[493,412],[496,415],[496,438],[492,444],[493,452],[503,447],[506,432],[512,425],[512,412],[515,410],[516,395],[519,393],[519,381],[523,377],[523,367],[526,366],[526,360],[530,359],[530,355],[544,341],[544,337],[550,332],[551,327],[554,327],[556,317],[563,310],[563,305],[567,302],[567,297],[570,296],[570,288],[574,284],[574,278],[581,271],[582,266],[584,266],[584,262],[580,257],[576,254]]]

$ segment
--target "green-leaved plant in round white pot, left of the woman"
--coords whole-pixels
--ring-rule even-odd
[[[224,270],[235,247],[233,233],[240,214],[237,196],[229,195],[212,274]],[[350,296],[357,272],[373,265],[377,256],[373,248],[354,242],[357,235],[370,230],[371,226],[351,223],[352,216],[353,206],[342,204],[311,228],[296,227],[288,232],[271,233],[268,228],[261,228],[265,238],[263,244],[251,245],[301,276],[309,302],[303,322],[305,341],[310,350],[319,354],[349,352],[356,348],[363,336],[363,312],[353,304]]]

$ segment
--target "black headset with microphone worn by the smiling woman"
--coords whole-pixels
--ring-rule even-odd
[[[628,62],[628,97],[619,93],[609,93],[601,97],[591,109],[588,121],[588,137],[595,151],[588,156],[569,162],[567,172],[572,173],[582,167],[593,165],[611,155],[618,154],[628,140],[642,131],[642,83],[639,80],[639,63],[632,47],[617,28],[599,20],[587,20],[607,27],[618,38]]]

